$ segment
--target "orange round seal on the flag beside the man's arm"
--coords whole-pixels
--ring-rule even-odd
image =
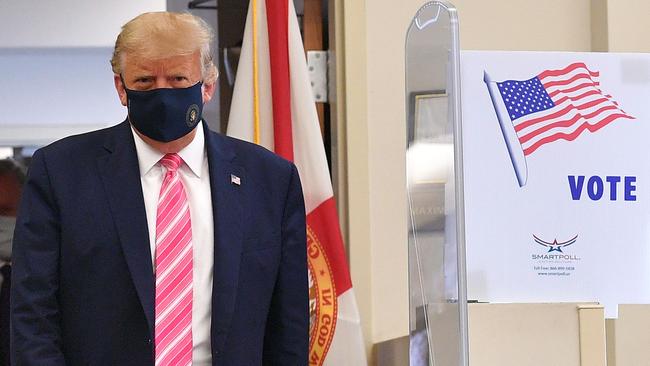
[[[322,365],[332,343],[337,297],[332,267],[316,233],[307,226],[309,268],[309,364]]]

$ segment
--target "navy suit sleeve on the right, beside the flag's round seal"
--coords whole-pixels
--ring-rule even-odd
[[[309,285],[305,202],[292,165],[282,220],[282,258],[264,337],[264,365],[307,365]]]

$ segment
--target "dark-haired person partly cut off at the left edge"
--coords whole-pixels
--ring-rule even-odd
[[[22,166],[12,159],[0,160],[0,365],[9,365],[11,242],[24,183]]]

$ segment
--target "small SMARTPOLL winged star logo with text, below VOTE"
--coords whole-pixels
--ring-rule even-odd
[[[533,271],[538,276],[570,276],[576,270],[576,264],[581,260],[577,254],[569,253],[567,247],[575,244],[578,235],[568,240],[544,240],[533,235],[533,242],[547,250],[544,253],[533,253]],[[538,247],[539,248],[539,247]]]

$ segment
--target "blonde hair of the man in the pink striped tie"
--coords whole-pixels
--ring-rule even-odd
[[[125,54],[155,60],[200,51],[203,81],[212,84],[217,79],[212,61],[213,38],[212,28],[189,13],[140,14],[122,26],[115,40],[111,66],[115,74],[121,74]]]

